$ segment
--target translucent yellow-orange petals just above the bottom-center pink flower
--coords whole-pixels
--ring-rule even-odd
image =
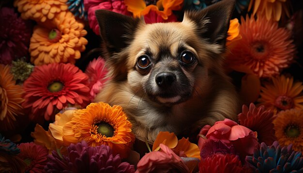
[[[184,137],[178,141],[175,133],[160,131],[152,145],[152,151],[158,151],[160,144],[165,144],[180,157],[200,159],[200,150],[197,144],[190,143]]]

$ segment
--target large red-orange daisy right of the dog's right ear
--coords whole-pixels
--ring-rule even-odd
[[[278,23],[264,16],[246,20],[241,17],[242,39],[229,46],[227,64],[240,72],[255,73],[259,77],[270,77],[287,68],[295,55],[295,45],[287,29],[278,28]]]

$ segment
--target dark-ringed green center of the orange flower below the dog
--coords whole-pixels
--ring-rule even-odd
[[[100,136],[105,136],[106,138],[113,137],[115,134],[115,129],[106,122],[99,122],[93,125],[91,133],[99,134]]]

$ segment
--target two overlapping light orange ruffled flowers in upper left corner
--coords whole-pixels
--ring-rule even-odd
[[[67,0],[15,0],[23,19],[38,25],[30,39],[30,61],[34,65],[75,63],[88,41],[84,24],[68,11]]]

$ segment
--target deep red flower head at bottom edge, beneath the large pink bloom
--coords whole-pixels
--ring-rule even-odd
[[[214,154],[199,163],[200,173],[244,173],[247,168],[242,166],[238,155]]]

